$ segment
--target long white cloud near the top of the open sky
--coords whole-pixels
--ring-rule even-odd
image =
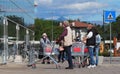
[[[61,9],[77,9],[77,10],[86,10],[86,9],[93,9],[93,8],[101,8],[104,7],[104,4],[100,4],[97,2],[84,2],[84,3],[75,3],[75,4],[69,4],[69,5],[63,5]]]

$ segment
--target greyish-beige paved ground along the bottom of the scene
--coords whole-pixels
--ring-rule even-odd
[[[66,70],[67,63],[61,64],[61,69],[56,69],[55,64],[37,64],[36,69],[27,67],[26,64],[8,63],[0,65],[0,74],[120,74],[120,64],[102,64],[96,68],[74,68]]]

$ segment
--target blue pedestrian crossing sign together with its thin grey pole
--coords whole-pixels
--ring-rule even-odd
[[[110,64],[111,64],[111,59],[112,59],[112,49],[111,49],[111,22],[114,22],[116,20],[116,14],[115,11],[104,11],[104,21],[110,23]]]

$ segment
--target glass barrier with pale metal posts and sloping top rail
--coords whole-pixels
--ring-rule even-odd
[[[13,56],[14,43],[16,44],[16,54],[21,55],[25,43],[27,48],[29,41],[34,41],[34,31],[19,24],[7,17],[0,18],[0,62],[6,64],[9,57]]]

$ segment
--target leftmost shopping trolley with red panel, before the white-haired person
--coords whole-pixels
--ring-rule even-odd
[[[58,54],[58,52],[54,48],[54,46],[55,46],[55,43],[53,43],[52,46],[51,45],[47,45],[46,47],[44,47],[44,50],[43,50],[44,57],[42,59],[40,59],[40,61],[42,61],[43,59],[49,57],[56,64],[56,68],[60,68],[59,63],[53,57],[54,55]]]

